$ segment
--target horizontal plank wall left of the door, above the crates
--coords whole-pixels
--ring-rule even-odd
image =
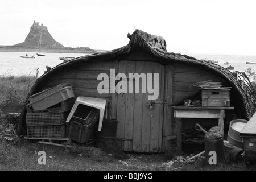
[[[109,76],[110,84],[110,69],[113,68],[114,62],[95,62],[85,65],[79,65],[76,67],[71,67],[66,71],[61,71],[52,76],[47,84],[44,85],[42,90],[51,88],[61,83],[67,83],[73,85],[73,92],[75,98],[78,96],[85,97],[97,97],[104,98],[107,100],[108,107],[111,107],[111,93],[98,93],[97,86],[101,80],[97,80],[100,73],[106,73]],[[106,111],[109,110],[108,107]],[[108,115],[110,113],[107,113]],[[108,117],[105,115],[105,117]]]

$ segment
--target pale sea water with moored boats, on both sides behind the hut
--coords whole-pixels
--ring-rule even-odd
[[[34,59],[22,58],[20,56],[35,56]],[[0,52],[0,75],[36,75],[36,69],[38,69],[38,76],[42,76],[46,71],[46,66],[56,67],[63,60],[60,57],[80,57],[88,55],[86,53],[50,53],[44,52],[46,56],[37,56],[33,52]],[[184,54],[184,53],[183,53]],[[255,62],[256,55],[217,55],[217,54],[193,54],[185,53],[187,56],[195,57],[196,59],[209,59],[218,61],[218,65],[226,68],[229,65],[234,67],[233,71],[245,72],[246,69],[251,68],[252,72],[256,72],[256,64],[246,64],[246,62]],[[228,65],[224,63],[228,62]]]

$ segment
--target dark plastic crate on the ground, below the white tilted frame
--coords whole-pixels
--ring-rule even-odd
[[[95,138],[95,131],[98,120],[94,120],[89,125],[82,125],[79,122],[73,121],[73,117],[69,122],[68,137],[79,143],[88,143]]]

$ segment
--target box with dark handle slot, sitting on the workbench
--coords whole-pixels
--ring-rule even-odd
[[[229,90],[202,90],[202,106],[230,107]]]

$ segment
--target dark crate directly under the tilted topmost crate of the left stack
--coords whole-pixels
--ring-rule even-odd
[[[74,104],[73,98],[69,98],[47,109],[33,110],[33,108],[28,105],[26,106],[26,109],[27,109],[27,113],[56,113],[56,112],[70,111],[73,107],[73,104]]]

